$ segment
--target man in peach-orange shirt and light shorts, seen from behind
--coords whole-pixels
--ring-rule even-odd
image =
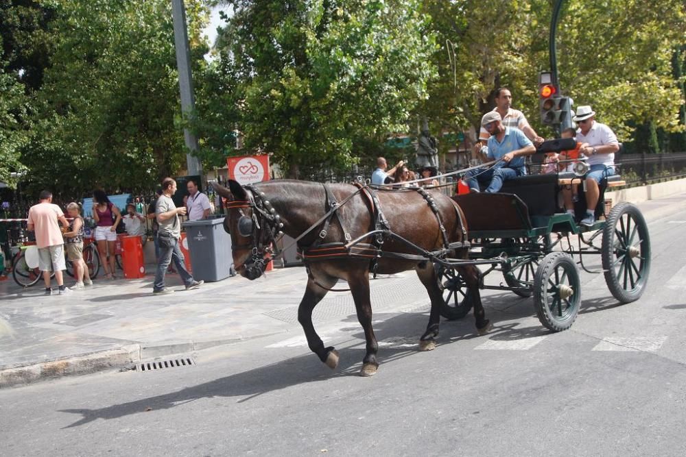
[[[43,271],[43,281],[45,282],[45,295],[52,295],[50,287],[50,273],[55,271],[55,279],[59,290],[59,295],[71,292],[71,289],[64,286],[62,270],[67,269],[64,262],[64,238],[58,222],[62,226],[69,227],[67,218],[59,206],[52,203],[52,193],[43,190],[40,193],[40,200],[37,205],[29,208],[28,230],[36,232],[36,247],[38,247],[38,267]]]

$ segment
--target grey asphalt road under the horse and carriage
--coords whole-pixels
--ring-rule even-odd
[[[350,316],[318,328],[337,371],[294,330],[200,351],[191,367],[5,389],[0,454],[683,456],[686,211],[662,204],[646,295],[616,306],[584,273],[567,332],[543,331],[530,299],[489,292],[494,331],[444,322],[429,353],[416,351],[425,309],[377,312],[373,378],[357,376]]]

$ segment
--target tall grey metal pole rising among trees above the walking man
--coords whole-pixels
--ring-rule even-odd
[[[174,45],[176,47],[176,66],[178,68],[178,86],[181,93],[181,112],[187,116],[193,112],[196,101],[193,98],[193,76],[191,75],[191,49],[188,43],[186,27],[186,10],[183,0],[171,0],[171,14],[174,17]],[[198,151],[198,138],[188,129],[183,129],[186,147],[191,152]],[[189,175],[200,175],[202,165],[196,156],[186,154]]]

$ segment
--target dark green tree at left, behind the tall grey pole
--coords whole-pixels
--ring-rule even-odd
[[[196,69],[206,10],[186,1]],[[148,189],[178,173],[185,147],[171,3],[43,0],[54,49],[34,101],[23,162],[37,187]]]

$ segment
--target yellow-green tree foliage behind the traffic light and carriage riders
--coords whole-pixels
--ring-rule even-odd
[[[438,107],[432,111],[436,123],[477,128],[493,108],[492,91],[508,86],[515,108],[539,133],[552,134],[539,121],[536,81],[549,67],[553,3],[425,0],[442,45],[433,58],[440,81],[427,102]],[[683,95],[670,60],[685,34],[683,0],[567,0],[557,34],[560,83],[577,106],[591,104],[622,140],[631,139],[632,125],[643,123],[678,131]]]

